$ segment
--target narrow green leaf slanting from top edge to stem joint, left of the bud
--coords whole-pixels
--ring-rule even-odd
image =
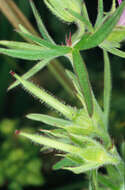
[[[52,40],[51,36],[49,35],[48,31],[46,30],[42,19],[40,18],[40,15],[35,7],[35,4],[33,3],[32,0],[30,0],[30,5],[33,11],[33,14],[35,16],[36,22],[37,22],[37,26],[39,28],[39,31],[41,33],[41,35],[43,36],[43,38],[49,42],[54,43],[54,41]]]

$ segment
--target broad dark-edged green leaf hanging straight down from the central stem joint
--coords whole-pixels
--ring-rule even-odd
[[[79,85],[85,99],[86,107],[90,116],[93,114],[93,101],[91,87],[85,63],[83,62],[78,50],[73,50],[73,66],[78,77]]]

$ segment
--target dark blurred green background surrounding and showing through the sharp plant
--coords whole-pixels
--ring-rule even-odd
[[[29,2],[14,1],[37,30]],[[45,7],[42,0],[35,1],[41,17],[53,39],[58,43],[65,43],[65,36],[76,30],[75,25],[61,23]],[[97,0],[85,1],[94,23],[97,11]],[[112,1],[104,1],[105,10],[109,10]],[[14,31],[7,18],[0,12],[0,40],[22,40]],[[122,44],[125,49],[125,44]],[[103,104],[103,57],[98,48],[83,53],[89,71],[90,80],[95,95]],[[71,69],[69,62],[59,59],[65,68]],[[118,146],[125,136],[125,59],[110,55],[112,69],[112,99],[109,131],[113,141]],[[46,127],[40,123],[25,118],[27,113],[56,114],[20,87],[7,92],[13,82],[10,70],[23,74],[35,62],[22,61],[0,55],[0,189],[21,190],[85,190],[87,179],[84,175],[74,175],[67,171],[52,171],[52,165],[58,159],[55,151],[40,153],[40,147],[26,139],[18,138],[16,129],[37,133],[38,129]],[[44,87],[66,103],[76,105],[53,74],[45,68],[33,77],[36,84]]]

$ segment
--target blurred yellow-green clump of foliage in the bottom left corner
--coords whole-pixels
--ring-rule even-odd
[[[10,190],[21,190],[24,186],[44,183],[38,149],[32,149],[32,144],[17,138],[14,132],[18,125],[18,120],[0,122],[0,189],[8,186]],[[26,126],[23,128],[33,131]]]

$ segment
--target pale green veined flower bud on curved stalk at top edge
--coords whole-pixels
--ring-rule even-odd
[[[71,9],[77,13],[81,13],[82,0],[44,0],[47,7],[65,22],[75,22],[76,18],[68,13],[67,9]]]

